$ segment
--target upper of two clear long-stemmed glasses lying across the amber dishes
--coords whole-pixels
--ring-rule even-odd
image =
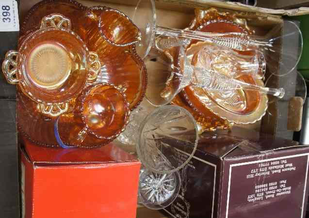
[[[274,54],[279,53],[281,58],[279,62],[280,71],[276,73],[276,66],[271,67],[271,70],[273,70],[272,73],[285,75],[295,68],[300,60],[303,48],[302,33],[292,21],[283,22],[282,35],[280,35],[281,26],[279,25],[264,36],[247,35],[239,32],[215,33],[166,28],[156,25],[154,0],[139,0],[132,19],[141,30],[142,40],[137,44],[137,51],[142,58],[146,58],[151,47],[166,49],[171,46],[175,47],[175,43],[182,44],[183,40],[166,40],[161,36],[176,37],[186,41],[205,41],[241,51],[260,50],[267,54],[266,60],[273,59]],[[164,41],[160,42],[162,39]],[[291,41],[296,41],[296,46],[291,44]]]

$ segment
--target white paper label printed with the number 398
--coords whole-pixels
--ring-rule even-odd
[[[0,0],[0,32],[19,31],[16,0]]]

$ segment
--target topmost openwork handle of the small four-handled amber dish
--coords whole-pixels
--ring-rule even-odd
[[[50,14],[49,16],[43,17],[40,30],[45,30],[49,27],[71,30],[71,21],[62,14]]]

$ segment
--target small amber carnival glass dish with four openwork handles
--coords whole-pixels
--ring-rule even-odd
[[[41,113],[55,117],[67,112],[86,82],[97,79],[100,66],[98,54],[71,31],[71,21],[51,14],[21,40],[18,51],[6,53],[2,72],[38,103]]]

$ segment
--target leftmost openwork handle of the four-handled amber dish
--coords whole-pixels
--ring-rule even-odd
[[[2,73],[6,81],[10,84],[17,84],[19,82],[16,77],[18,55],[18,51],[8,51],[6,52],[4,61],[2,62]]]

